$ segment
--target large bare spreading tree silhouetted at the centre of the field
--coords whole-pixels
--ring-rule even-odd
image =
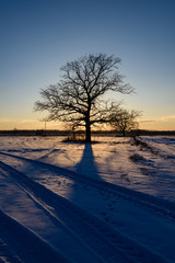
[[[107,103],[103,95],[107,91],[122,94],[132,92],[118,73],[119,58],[105,54],[85,55],[61,68],[62,79],[55,85],[40,91],[42,101],[35,103],[36,111],[47,111],[48,121],[71,123],[85,127],[86,141],[91,141],[91,126],[107,122],[107,114],[114,103]]]

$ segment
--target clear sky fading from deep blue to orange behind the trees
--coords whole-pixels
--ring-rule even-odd
[[[113,99],[142,111],[140,127],[175,129],[174,25],[174,0],[0,0],[0,129],[43,128],[39,89],[90,53],[121,58],[137,94]]]

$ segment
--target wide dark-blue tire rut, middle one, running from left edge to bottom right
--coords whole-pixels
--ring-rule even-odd
[[[65,221],[78,237],[91,244],[95,252],[102,255],[104,262],[166,262],[145,247],[113,229],[97,216],[55,194],[24,173],[2,162],[0,167],[8,176],[15,179],[35,202],[38,202],[43,209],[47,209],[56,219]]]

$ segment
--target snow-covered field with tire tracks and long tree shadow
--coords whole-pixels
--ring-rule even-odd
[[[175,262],[175,137],[0,137],[0,263]]]

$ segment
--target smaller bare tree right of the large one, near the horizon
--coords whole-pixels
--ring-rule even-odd
[[[126,132],[131,129],[138,129],[137,117],[141,115],[139,111],[127,111],[124,108],[117,107],[110,114],[110,125],[118,132],[122,132],[122,135],[126,136]]]

